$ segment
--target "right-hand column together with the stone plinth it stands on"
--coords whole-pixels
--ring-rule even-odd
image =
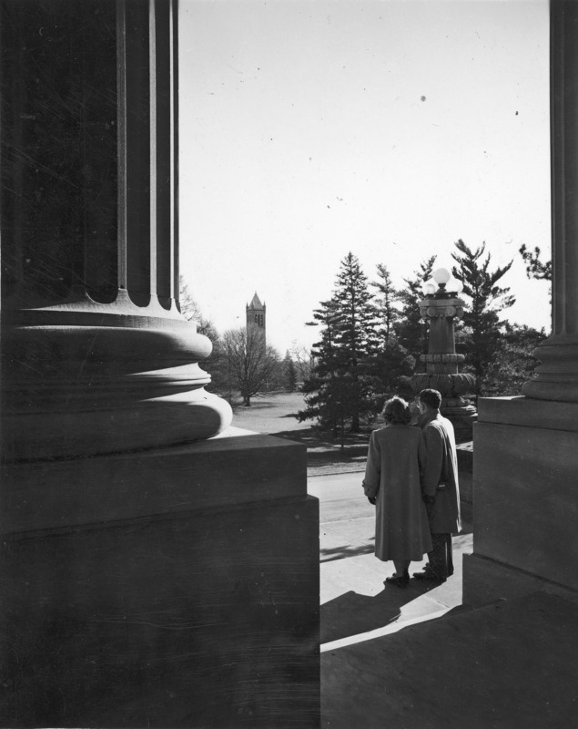
[[[463,599],[578,599],[578,4],[551,2],[553,334],[525,396],[481,398]]]

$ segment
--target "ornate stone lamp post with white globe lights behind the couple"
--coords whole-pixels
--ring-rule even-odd
[[[420,313],[430,320],[428,354],[421,354],[426,363],[426,372],[413,375],[411,383],[416,393],[425,387],[432,387],[441,393],[441,413],[448,417],[457,429],[472,434],[472,422],[477,416],[476,408],[464,400],[463,395],[472,391],[473,375],[458,372],[463,354],[456,354],[453,323],[463,316],[465,302],[458,298],[459,282],[452,281],[453,291],[447,291],[451,274],[444,268],[433,273],[433,281],[424,286],[425,297],[420,302]]]

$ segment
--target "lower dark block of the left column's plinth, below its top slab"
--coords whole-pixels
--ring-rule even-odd
[[[3,725],[319,727],[318,525],[309,497],[5,540]]]

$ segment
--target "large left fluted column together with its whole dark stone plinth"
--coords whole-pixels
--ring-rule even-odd
[[[2,718],[319,726],[306,449],[178,311],[176,0],[0,0]]]

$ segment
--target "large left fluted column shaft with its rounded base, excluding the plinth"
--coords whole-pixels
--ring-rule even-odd
[[[5,457],[214,436],[230,407],[178,311],[173,4],[3,8]]]

